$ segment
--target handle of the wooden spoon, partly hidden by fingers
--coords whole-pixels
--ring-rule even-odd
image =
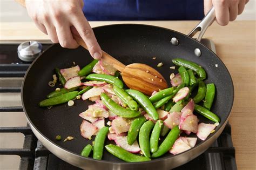
[[[88,50],[84,40],[80,36],[73,34],[73,37],[76,39],[77,43],[80,46],[83,46],[86,50]],[[102,60],[107,64],[112,65],[115,69],[117,69],[120,72],[122,72],[125,68],[125,65],[123,63],[119,62],[116,58],[110,56],[108,53],[106,53],[103,50],[102,50]]]

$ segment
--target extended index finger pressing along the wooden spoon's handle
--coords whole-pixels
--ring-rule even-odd
[[[102,50],[100,49],[91,26],[87,22],[87,19],[84,17],[84,15],[77,15],[72,24],[87,45],[91,56],[95,59],[100,59],[102,57]]]

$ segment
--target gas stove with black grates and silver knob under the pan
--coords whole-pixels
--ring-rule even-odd
[[[212,40],[202,39],[201,42],[215,52]],[[3,137],[3,140],[0,140],[0,169],[79,169],[50,153],[26,125],[21,104],[21,84],[31,62],[21,57],[21,46],[36,46],[32,55],[27,54],[35,58],[52,44],[46,41],[41,42],[40,46],[29,41],[21,45],[18,52],[21,43],[23,42],[0,42],[0,135]],[[14,123],[12,120],[15,120]],[[21,136],[20,134],[23,134],[23,137],[14,137]],[[15,142],[19,143],[20,148],[11,144],[14,139],[18,139]],[[237,169],[231,126],[226,125],[223,133],[206,152],[175,169]]]

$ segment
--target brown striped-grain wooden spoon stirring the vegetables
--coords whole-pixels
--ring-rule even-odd
[[[81,37],[75,34],[73,34],[73,37],[76,39],[79,45],[88,50],[84,40]],[[149,65],[133,63],[125,66],[123,63],[119,62],[117,59],[113,58],[103,50],[102,60],[121,72],[125,84],[130,89],[135,89],[148,96],[151,96],[153,91],[158,92],[168,87],[164,77]]]

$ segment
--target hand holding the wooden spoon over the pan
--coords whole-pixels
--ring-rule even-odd
[[[84,16],[82,0],[26,0],[26,9],[36,26],[49,35],[53,43],[75,49],[79,45],[72,33],[79,33],[91,56],[99,59],[102,50]]]

